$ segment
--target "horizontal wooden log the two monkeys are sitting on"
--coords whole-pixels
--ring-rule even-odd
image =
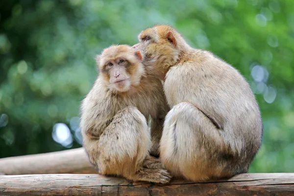
[[[243,173],[227,180],[169,184],[98,174],[0,176],[1,196],[294,196],[294,173]]]

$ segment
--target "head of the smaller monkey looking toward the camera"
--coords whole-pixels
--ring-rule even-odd
[[[145,74],[142,55],[128,45],[114,45],[97,55],[96,62],[102,81],[110,90],[127,92],[140,83]]]

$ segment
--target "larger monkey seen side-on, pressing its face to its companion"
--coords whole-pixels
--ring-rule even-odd
[[[133,48],[165,80],[172,108],[160,142],[166,169],[194,181],[247,172],[263,125],[245,78],[211,52],[190,47],[169,25],[143,30],[139,41]]]

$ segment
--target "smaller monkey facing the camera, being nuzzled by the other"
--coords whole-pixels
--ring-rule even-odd
[[[99,75],[81,105],[83,146],[100,174],[166,183],[158,143],[169,110],[156,74],[143,66],[140,51],[119,45],[97,56]],[[151,116],[151,136],[146,119]],[[152,148],[152,149],[151,149]]]

